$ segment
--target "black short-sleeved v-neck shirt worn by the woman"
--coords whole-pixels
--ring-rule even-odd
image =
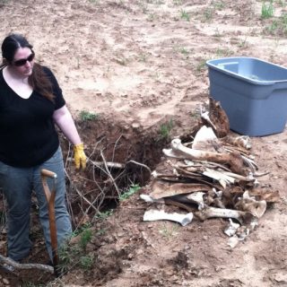
[[[53,113],[65,100],[54,74],[43,69],[53,85],[54,102],[37,91],[22,99],[4,81],[3,70],[0,72],[0,161],[13,167],[37,166],[59,146]]]

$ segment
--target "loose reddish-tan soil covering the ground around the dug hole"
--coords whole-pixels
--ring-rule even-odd
[[[162,161],[161,149],[169,145],[162,125],[172,123],[170,138],[190,133],[208,100],[206,60],[248,56],[287,65],[285,30],[272,26],[286,12],[284,3],[274,1],[276,18],[262,20],[262,2],[255,0],[5,0],[0,35],[4,39],[14,31],[30,39],[37,60],[57,75],[91,161],[102,161],[100,151],[106,161],[129,161],[124,173],[112,170],[113,178],[120,190],[139,183],[141,193],[149,171],[132,161],[151,170]],[[99,118],[83,121],[83,110]],[[260,184],[278,190],[281,202],[270,206],[257,230],[234,249],[227,245],[223,220],[186,227],[143,222],[147,204],[139,194],[118,204],[109,175],[95,171],[91,161],[84,173],[74,172],[64,138],[62,146],[74,226],[83,224],[90,206],[76,190],[102,213],[114,207],[107,219],[92,221],[85,252],[93,265],[84,270],[72,264],[55,281],[37,271],[17,276],[2,271],[1,286],[287,286],[286,129],[252,138],[259,171],[269,171]],[[90,207],[86,220],[94,214]],[[32,234],[30,260],[45,263],[37,223]],[[4,242],[3,234],[1,253]]]

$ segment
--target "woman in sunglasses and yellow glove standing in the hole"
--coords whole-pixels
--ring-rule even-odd
[[[2,56],[0,187],[8,204],[8,257],[20,261],[30,253],[30,203],[34,190],[48,254],[52,258],[48,204],[40,178],[42,169],[57,173],[57,246],[63,245],[72,232],[65,206],[63,156],[54,124],[74,144],[77,169],[85,168],[83,143],[57,79],[47,67],[34,62],[35,53],[28,40],[19,34],[7,36],[2,44]]]

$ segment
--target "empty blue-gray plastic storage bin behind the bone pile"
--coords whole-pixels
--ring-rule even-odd
[[[254,57],[209,60],[210,95],[222,104],[230,129],[250,136],[283,132],[287,69]]]

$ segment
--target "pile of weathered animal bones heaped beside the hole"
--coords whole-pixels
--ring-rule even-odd
[[[167,161],[152,172],[151,191],[141,195],[150,203],[143,221],[170,220],[185,226],[194,216],[201,221],[227,218],[224,232],[234,248],[279,194],[260,187],[257,178],[267,173],[258,173],[250,138],[229,135],[229,120],[219,102],[210,99],[195,131],[190,143],[175,138],[170,149],[163,149]],[[166,213],[156,208],[159,204],[175,205],[187,213]]]

